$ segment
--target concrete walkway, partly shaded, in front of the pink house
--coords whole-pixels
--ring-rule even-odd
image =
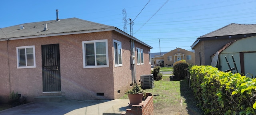
[[[104,115],[126,113],[129,99],[31,102],[0,111],[0,115]],[[109,114],[108,114],[109,115]]]

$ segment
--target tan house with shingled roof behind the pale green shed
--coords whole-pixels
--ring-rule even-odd
[[[225,44],[256,36],[256,24],[229,24],[218,30],[200,36],[191,46],[195,50],[196,65],[210,65],[211,57]]]

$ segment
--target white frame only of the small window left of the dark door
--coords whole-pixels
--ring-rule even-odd
[[[27,65],[27,48],[33,48],[33,63],[34,65],[28,66]],[[26,58],[26,65],[25,66],[20,66],[20,55],[19,55],[19,50],[20,49],[25,49],[25,58]],[[35,52],[35,46],[20,46],[16,47],[16,56],[17,56],[17,68],[22,69],[22,68],[36,68],[36,52]]]

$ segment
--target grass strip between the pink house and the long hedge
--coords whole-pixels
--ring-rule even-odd
[[[176,113],[183,115],[201,114],[201,110],[196,107],[197,102],[187,81],[170,81],[170,76],[165,75],[162,80],[154,81],[154,88],[144,89],[144,91],[152,93],[156,115],[161,115],[158,114],[161,111],[175,113],[175,115]],[[120,99],[128,99],[127,94]]]

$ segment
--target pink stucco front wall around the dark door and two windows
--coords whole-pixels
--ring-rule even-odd
[[[111,38],[111,32],[10,41],[11,89],[28,97],[28,101],[40,95],[65,95],[66,99],[114,99],[112,47],[108,48],[110,67],[83,68],[82,41],[108,38]],[[112,40],[108,40],[108,44],[112,43]],[[41,45],[46,44],[60,45],[61,94],[42,93]],[[16,47],[32,45],[35,46],[36,68],[17,69]],[[96,93],[104,93],[104,96],[96,96]]]

